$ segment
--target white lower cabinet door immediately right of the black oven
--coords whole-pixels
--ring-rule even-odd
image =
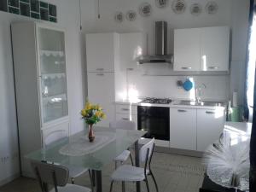
[[[170,108],[170,147],[196,150],[196,109]]]

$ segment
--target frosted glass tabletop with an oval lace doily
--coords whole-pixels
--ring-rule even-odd
[[[47,147],[38,148],[37,151],[26,154],[26,158],[61,165],[82,166],[100,171],[103,166],[111,163],[114,157],[131,147],[146,133],[146,131],[129,131],[99,126],[94,126],[94,131],[95,143],[89,143],[87,130],[80,131],[71,137],[51,143]],[[100,138],[102,138],[102,142],[97,141]]]

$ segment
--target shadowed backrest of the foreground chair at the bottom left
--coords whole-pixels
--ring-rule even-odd
[[[44,185],[44,183],[52,184],[55,187],[63,187],[67,184],[69,177],[67,167],[48,164],[36,160],[32,160],[31,165],[32,170],[38,177],[41,187]]]

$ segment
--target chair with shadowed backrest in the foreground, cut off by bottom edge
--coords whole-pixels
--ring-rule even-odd
[[[68,184],[68,169],[65,166],[57,166],[32,160],[32,170],[35,172],[42,192],[48,192],[49,184],[54,186],[49,192],[90,192],[76,184]]]

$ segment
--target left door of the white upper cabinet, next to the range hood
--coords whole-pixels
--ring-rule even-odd
[[[200,70],[201,30],[174,30],[174,71]]]

